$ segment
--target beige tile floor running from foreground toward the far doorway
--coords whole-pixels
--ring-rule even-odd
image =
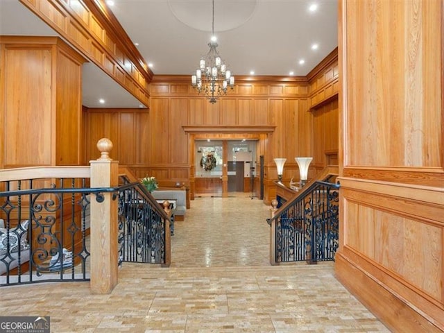
[[[268,264],[269,208],[196,198],[176,222],[170,268],[124,263],[110,295],[89,284],[0,289],[1,316],[51,316],[51,332],[388,332],[334,264]]]

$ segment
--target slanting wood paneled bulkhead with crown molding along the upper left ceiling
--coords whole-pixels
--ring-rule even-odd
[[[148,106],[153,73],[103,0],[20,2]]]

